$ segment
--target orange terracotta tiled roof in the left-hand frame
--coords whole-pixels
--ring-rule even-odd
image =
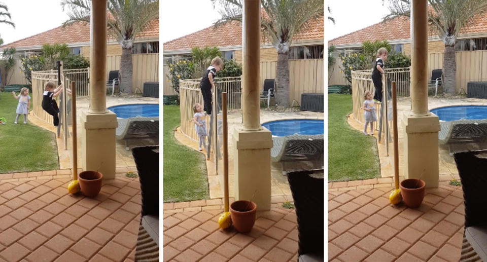
[[[158,38],[159,37],[159,19],[154,19],[144,31],[137,34],[137,38]],[[109,33],[109,40],[114,40]],[[66,27],[56,27],[54,29],[38,33],[28,38],[24,38],[1,48],[8,47],[36,47],[44,44],[74,44],[88,43],[90,41],[90,25],[83,22],[75,22]]]

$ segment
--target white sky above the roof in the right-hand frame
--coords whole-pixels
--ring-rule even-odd
[[[328,6],[335,24],[326,22],[326,40],[376,24],[389,14],[388,5],[382,6],[382,0],[328,0]]]

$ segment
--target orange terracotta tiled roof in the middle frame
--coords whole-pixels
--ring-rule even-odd
[[[324,17],[310,20],[308,25],[294,35],[294,41],[323,40]],[[270,43],[268,40],[264,40]],[[186,50],[194,47],[240,46],[242,44],[242,26],[240,22],[232,21],[216,29],[213,26],[182,36],[181,38],[164,43],[164,50]]]

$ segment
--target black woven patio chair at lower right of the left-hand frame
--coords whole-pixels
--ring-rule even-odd
[[[159,261],[159,146],[132,148],[141,183],[141,223],[135,261]]]

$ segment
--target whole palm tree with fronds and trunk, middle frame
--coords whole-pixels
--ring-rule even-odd
[[[212,0],[222,9],[221,19],[215,26],[242,20],[242,0]],[[277,50],[276,101],[288,107],[289,99],[289,48],[295,33],[306,22],[324,15],[323,0],[260,0],[265,15],[261,16],[261,28]]]

